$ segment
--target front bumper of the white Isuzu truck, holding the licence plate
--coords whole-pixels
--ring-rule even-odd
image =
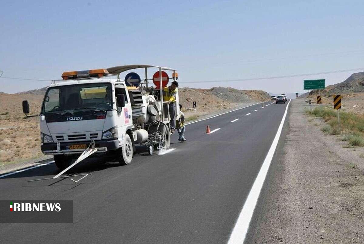
[[[46,155],[49,154],[81,154],[84,149],[67,149],[67,146],[86,144],[90,145],[91,141],[81,142],[61,142],[60,147],[57,149],[57,143],[44,143],[40,146],[42,152]],[[105,153],[106,151],[116,150],[119,148],[119,140],[99,140],[95,141],[95,147],[98,148],[96,153]]]

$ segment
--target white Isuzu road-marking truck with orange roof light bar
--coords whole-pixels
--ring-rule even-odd
[[[54,155],[56,166],[67,170],[72,161],[79,162],[91,154],[127,165],[136,145],[146,146],[149,154],[155,149],[169,148],[169,106],[160,95],[162,80],[166,79],[159,79],[158,89],[148,87],[152,80],[148,79],[148,68],[159,72],[154,83],[165,71],[173,72],[173,80],[178,79],[178,73],[171,68],[126,65],[64,72],[62,80],[52,80],[40,114],[30,115],[40,116],[42,152]],[[144,82],[138,87],[120,79],[121,72],[131,69],[145,70]],[[178,92],[176,103],[177,116]],[[23,112],[29,114],[28,101],[23,101]]]

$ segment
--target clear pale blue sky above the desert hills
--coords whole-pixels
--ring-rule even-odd
[[[63,71],[154,64],[176,68],[182,87],[302,93],[303,79],[326,79],[328,85],[353,72],[197,81],[364,67],[362,0],[3,0],[0,9],[0,70],[5,77],[58,79]],[[0,79],[0,91],[47,84]]]

